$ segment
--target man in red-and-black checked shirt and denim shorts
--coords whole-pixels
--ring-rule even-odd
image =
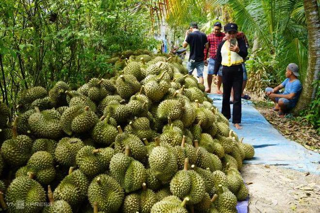
[[[212,75],[213,75],[213,69],[214,69],[214,63],[216,61],[216,55],[217,55],[217,49],[220,42],[222,42],[222,39],[224,38],[225,34],[221,32],[221,23],[216,22],[213,26],[213,32],[208,34],[208,43],[209,43],[209,60],[208,58],[208,49],[205,49],[205,65],[208,66],[208,88],[206,89],[206,92],[211,92],[211,84],[212,84]],[[217,84],[217,91],[216,93],[222,94],[222,91],[220,91],[221,83],[222,83],[222,67],[220,67],[218,72],[218,84]]]

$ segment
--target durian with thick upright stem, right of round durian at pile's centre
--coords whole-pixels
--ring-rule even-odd
[[[188,158],[190,164],[196,164],[197,162],[197,155],[196,155],[196,149],[190,145],[186,144],[186,136],[182,137],[182,142],[180,146],[174,147],[176,159],[177,159],[177,166],[178,170],[181,170],[184,168],[184,162],[185,159]]]

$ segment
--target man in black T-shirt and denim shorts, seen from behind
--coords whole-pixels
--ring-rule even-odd
[[[187,63],[187,69],[189,75],[192,75],[193,70],[197,69],[197,77],[200,83],[203,84],[203,70],[205,67],[205,48],[209,48],[207,35],[198,30],[198,24],[192,22],[190,24],[190,29],[186,32],[186,38],[182,46],[186,48],[190,45],[190,56]]]

